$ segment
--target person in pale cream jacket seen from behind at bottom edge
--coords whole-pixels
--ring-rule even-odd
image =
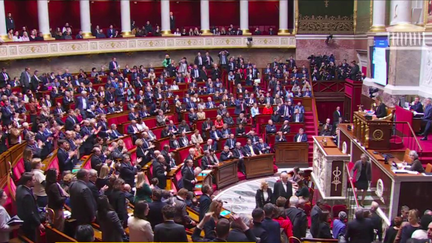
[[[149,206],[145,201],[135,202],[133,217],[128,219],[130,242],[152,242],[153,230],[145,219],[149,212]]]

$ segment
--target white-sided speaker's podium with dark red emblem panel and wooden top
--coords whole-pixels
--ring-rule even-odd
[[[348,182],[346,164],[349,154],[344,154],[332,137],[315,136],[312,178],[321,198],[330,201],[345,200]]]

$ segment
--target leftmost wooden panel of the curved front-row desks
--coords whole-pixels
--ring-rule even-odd
[[[220,162],[219,166],[213,168],[213,175],[219,190],[238,182],[237,163],[238,160],[228,160]]]

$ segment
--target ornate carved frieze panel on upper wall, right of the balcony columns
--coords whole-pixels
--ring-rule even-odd
[[[352,34],[353,16],[302,16],[299,18],[301,34]]]

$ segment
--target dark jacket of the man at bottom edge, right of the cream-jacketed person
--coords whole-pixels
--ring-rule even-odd
[[[187,242],[186,231],[183,225],[174,221],[165,221],[158,224],[154,231],[154,242]]]

